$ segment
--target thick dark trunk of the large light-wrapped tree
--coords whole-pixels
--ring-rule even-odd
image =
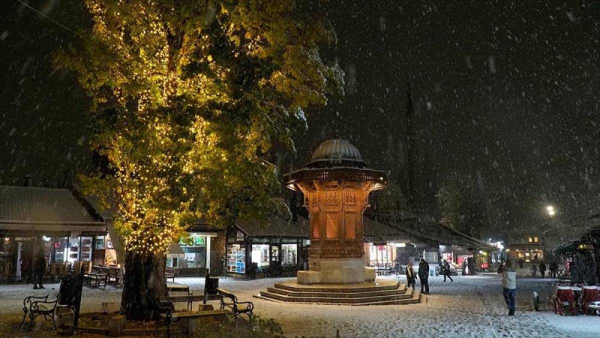
[[[125,255],[121,314],[134,321],[160,319],[158,297],[168,295],[164,256],[129,251]]]

